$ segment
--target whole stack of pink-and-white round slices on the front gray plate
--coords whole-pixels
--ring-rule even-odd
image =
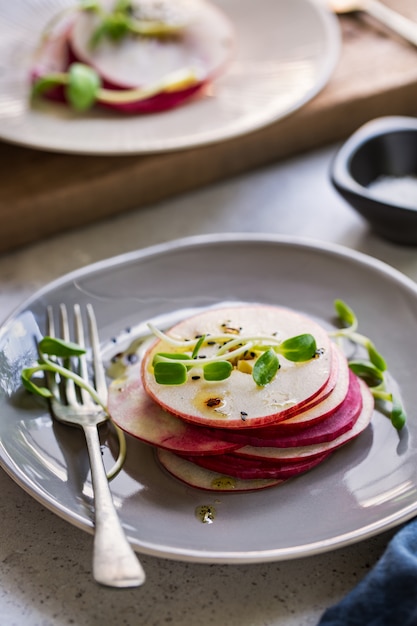
[[[259,353],[306,334],[315,339],[315,354],[301,362],[279,355],[276,375],[256,384]],[[158,358],[189,356],[197,342],[196,358],[184,361],[186,380],[158,382]],[[205,363],[235,354],[237,346],[249,348],[231,358],[230,375],[206,380]],[[270,487],[312,469],[357,437],[373,408],[368,387],[321,325],[263,305],[209,309],[161,334],[142,362],[110,385],[108,400],[113,421],[155,446],[168,472],[218,491]]]

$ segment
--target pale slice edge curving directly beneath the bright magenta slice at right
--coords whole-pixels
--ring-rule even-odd
[[[340,446],[343,446],[348,441],[360,435],[371,421],[374,410],[374,398],[369,387],[360,379],[358,379],[358,382],[362,394],[362,409],[352,428],[339,437],[336,437],[336,439],[290,448],[244,446],[230,453],[230,455],[252,460],[268,461],[271,463],[293,463],[294,461],[301,461],[303,459],[314,459],[321,457],[322,454],[335,451],[337,448],[340,448]]]

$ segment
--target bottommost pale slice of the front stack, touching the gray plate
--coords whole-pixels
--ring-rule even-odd
[[[157,457],[161,465],[181,482],[190,487],[203,489],[205,491],[220,492],[245,492],[276,487],[284,481],[279,478],[258,478],[243,479],[234,476],[227,476],[219,472],[213,472],[199,467],[191,461],[167,450],[158,450]]]

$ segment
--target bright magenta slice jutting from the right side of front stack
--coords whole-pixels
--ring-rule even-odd
[[[242,445],[258,447],[290,448],[309,446],[326,441],[333,441],[340,435],[350,430],[362,409],[362,394],[358,378],[349,372],[349,387],[345,399],[330,414],[325,414],[323,419],[315,421],[310,426],[290,431],[274,428],[273,426],[261,429],[256,433],[245,431],[236,436],[230,435],[230,440]],[[266,432],[262,432],[262,431]],[[241,435],[241,436],[240,436]]]

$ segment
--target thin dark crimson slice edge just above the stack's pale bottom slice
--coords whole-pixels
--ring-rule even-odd
[[[239,458],[233,453],[204,457],[187,456],[185,458],[199,467],[236,478],[279,478],[286,480],[307,472],[324,461],[328,455],[329,453],[323,453],[312,459],[290,463],[270,463],[263,459]]]

